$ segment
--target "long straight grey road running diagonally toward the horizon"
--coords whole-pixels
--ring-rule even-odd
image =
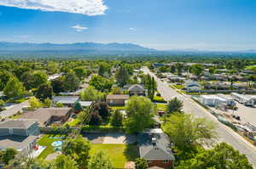
[[[143,68],[143,71],[145,74],[154,76],[154,73],[148,70],[148,68]],[[189,97],[177,93],[174,89],[169,87],[166,82],[161,82],[160,79],[156,76],[154,76],[154,79],[157,82],[158,91],[164,99],[170,100],[174,97],[177,97],[177,99],[183,101],[184,112],[192,113],[197,117],[204,117],[209,121],[214,121],[216,123],[216,132],[218,133],[218,142],[225,142],[230,144],[235,149],[239,150],[241,154],[247,155],[248,161],[253,164],[253,168],[256,168],[256,148],[252,144],[248,143],[246,139],[242,138],[229,127],[224,126],[207,110],[196,104]]]

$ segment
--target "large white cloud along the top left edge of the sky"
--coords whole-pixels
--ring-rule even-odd
[[[0,5],[86,15],[104,14],[108,9],[103,0],[0,0]]]

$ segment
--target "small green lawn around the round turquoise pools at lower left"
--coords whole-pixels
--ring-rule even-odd
[[[45,134],[42,138],[38,140],[38,145],[47,146],[46,149],[38,156],[38,159],[45,159],[47,155],[55,152],[54,147],[51,145],[55,141],[60,141],[62,139],[55,139],[50,137],[65,137],[65,135],[54,135],[54,134]]]

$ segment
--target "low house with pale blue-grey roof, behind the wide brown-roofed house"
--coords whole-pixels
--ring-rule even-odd
[[[77,101],[79,101],[79,96],[55,96],[52,99],[53,104],[61,103],[69,107],[73,107]]]

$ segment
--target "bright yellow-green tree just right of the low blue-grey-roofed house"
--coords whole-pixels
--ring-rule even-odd
[[[104,99],[104,93],[97,91],[94,87],[86,87],[82,93],[80,93],[80,98],[83,101],[101,101]]]

